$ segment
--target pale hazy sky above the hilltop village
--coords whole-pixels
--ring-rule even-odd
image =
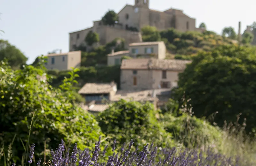
[[[0,39],[19,48],[27,64],[54,49],[68,52],[69,32],[92,26],[108,10],[120,11],[134,0],[0,0]],[[204,22],[208,30],[221,34],[226,26],[244,32],[256,21],[254,0],[149,0],[149,8],[164,11],[181,9],[196,18],[196,27]]]

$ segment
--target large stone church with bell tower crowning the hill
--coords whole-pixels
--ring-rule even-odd
[[[124,38],[125,44],[141,42],[140,30],[144,26],[155,26],[159,31],[168,28],[175,28],[180,32],[199,31],[196,28],[196,19],[190,18],[181,10],[168,9],[166,11],[156,11],[149,9],[149,0],[134,0],[134,5],[126,4],[117,15],[119,21],[114,26],[103,25],[101,20],[93,21],[93,26],[84,30],[69,33],[69,51],[76,50],[77,47],[86,45],[84,38],[88,32],[93,31],[99,34],[100,42],[105,45],[115,38]],[[138,32],[131,31],[137,29]]]

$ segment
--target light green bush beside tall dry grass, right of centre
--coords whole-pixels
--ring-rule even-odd
[[[165,130],[172,133],[175,140],[183,143],[186,147],[212,147],[221,143],[221,130],[195,116],[184,114],[174,117],[170,113],[165,113],[163,121]],[[217,148],[220,147],[216,147],[216,150],[218,150]]]

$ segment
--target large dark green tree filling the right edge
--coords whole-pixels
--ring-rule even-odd
[[[191,99],[197,117],[206,117],[222,127],[224,121],[242,125],[252,132],[256,107],[256,51],[251,47],[219,46],[211,52],[201,52],[179,76],[176,99],[185,95]]]

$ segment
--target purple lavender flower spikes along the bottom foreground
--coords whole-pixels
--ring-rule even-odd
[[[52,160],[47,162],[48,166],[69,165],[69,166],[227,166],[227,165],[241,165],[252,166],[250,161],[241,161],[239,156],[226,157],[220,153],[216,153],[211,148],[207,150],[180,150],[179,148],[158,148],[153,143],[147,144],[143,149],[133,147],[133,140],[124,151],[124,147],[118,150],[119,153],[114,153],[108,156],[108,160],[104,160],[105,151],[100,150],[100,140],[95,143],[94,151],[84,149],[79,151],[77,144],[75,144],[71,155],[68,153],[69,149],[65,151],[65,144],[62,142],[55,151],[51,151]],[[35,145],[32,145],[29,153],[28,163],[33,162],[33,153]],[[113,145],[115,150],[115,144]],[[65,155],[63,155],[65,153]],[[120,154],[120,155],[119,155]],[[103,160],[102,160],[103,159]],[[77,162],[78,161],[78,162]],[[37,166],[41,165],[42,160],[39,159]],[[15,164],[14,164],[15,165]],[[13,166],[14,166],[13,165]]]

